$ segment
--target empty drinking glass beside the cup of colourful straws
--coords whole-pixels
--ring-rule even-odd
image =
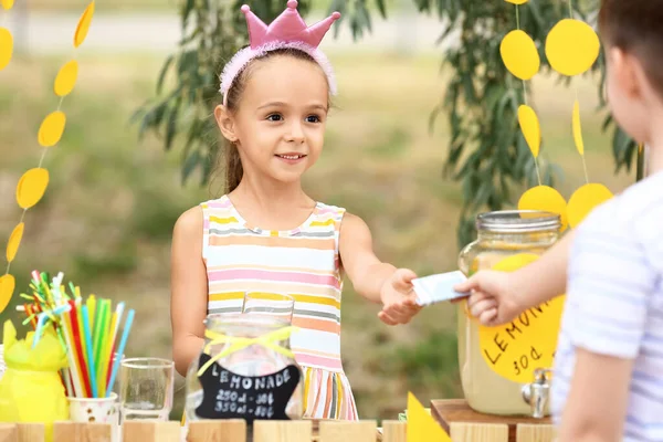
[[[120,414],[125,420],[167,421],[172,409],[175,362],[129,358],[119,368]]]

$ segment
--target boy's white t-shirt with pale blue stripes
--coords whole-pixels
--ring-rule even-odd
[[[633,359],[623,441],[663,441],[663,173],[594,209],[571,248],[555,356],[559,424],[576,349]]]

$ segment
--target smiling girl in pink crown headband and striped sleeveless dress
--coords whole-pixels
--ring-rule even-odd
[[[419,312],[415,274],[381,262],[366,223],[309,198],[302,175],[325,138],[334,73],[317,49],[340,14],[307,28],[297,2],[270,27],[248,6],[251,46],[221,74],[214,109],[228,141],[227,194],[185,212],[171,257],[173,358],[186,375],[203,343],[208,314],[240,312],[243,293],[295,298],[291,345],[303,369],[305,417],[356,420],[340,358],[344,273],[355,290],[382,304],[379,318],[406,324]]]

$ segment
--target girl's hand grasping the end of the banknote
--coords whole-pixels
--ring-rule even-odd
[[[412,280],[415,277],[417,274],[411,270],[399,269],[385,281],[380,291],[383,307],[378,314],[385,324],[408,324],[421,311],[412,286]]]

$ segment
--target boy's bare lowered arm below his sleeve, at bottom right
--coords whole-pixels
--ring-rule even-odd
[[[576,349],[576,366],[559,442],[622,440],[633,359]]]

